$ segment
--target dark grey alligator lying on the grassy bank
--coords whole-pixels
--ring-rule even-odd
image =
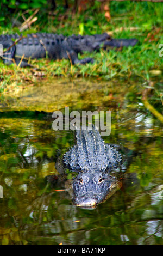
[[[93,63],[92,58],[78,59],[78,53],[99,51],[100,48],[121,48],[134,46],[136,39],[112,39],[107,33],[96,35],[64,36],[51,33],[33,33],[22,36],[18,34],[0,35],[3,45],[3,62],[15,62],[28,66],[29,59],[46,58],[70,59],[71,64]]]

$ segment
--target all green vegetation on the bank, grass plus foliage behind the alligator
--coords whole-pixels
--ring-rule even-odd
[[[23,35],[31,32],[52,32],[71,34],[110,33],[113,38],[136,38],[139,44],[123,48],[122,51],[84,53],[84,57],[93,57],[95,62],[86,65],[71,66],[69,60],[51,61],[48,59],[31,60],[33,68],[18,68],[15,64],[6,66],[0,62],[0,93],[1,100],[8,93],[14,93],[27,86],[32,86],[40,79],[52,77],[93,78],[110,81],[122,79],[126,83],[130,78],[140,78],[140,94],[149,84],[151,86],[152,104],[162,107],[162,72],[163,57],[159,56],[159,45],[163,42],[163,9],[162,3],[152,2],[110,2],[111,19],[106,20],[101,3],[95,1],[91,8],[74,12],[74,2],[70,1],[68,9],[64,3],[57,1],[57,8],[51,11],[51,4],[46,0],[21,1],[7,4],[3,0],[1,6],[0,34],[20,33],[24,19],[31,15],[37,18]],[[64,1],[63,1],[64,2]],[[32,9],[35,8],[35,9]],[[39,9],[36,9],[39,8]],[[10,15],[9,15],[10,14]],[[16,23],[17,26],[13,26]],[[159,85],[158,85],[159,82]],[[140,95],[141,97],[141,95]],[[146,103],[148,109],[152,109]],[[150,110],[151,111],[151,110]],[[153,114],[157,113],[153,111]],[[162,118],[161,118],[162,119]],[[161,120],[160,119],[160,120]]]

